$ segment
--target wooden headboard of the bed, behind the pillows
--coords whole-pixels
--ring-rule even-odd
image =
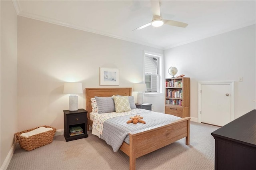
[[[85,89],[85,98],[86,98],[86,111],[87,117],[92,112],[91,98],[98,97],[110,97],[112,95],[122,95],[122,96],[131,96],[132,87],[123,87],[123,88],[86,88]]]

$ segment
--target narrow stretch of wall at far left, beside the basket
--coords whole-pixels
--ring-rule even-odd
[[[8,166],[14,133],[18,129],[17,15],[12,1],[1,4],[0,57],[0,167]]]

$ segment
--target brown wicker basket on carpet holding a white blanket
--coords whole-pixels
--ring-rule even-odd
[[[32,129],[29,129],[29,130],[24,130],[22,132],[15,133],[17,142],[19,142],[20,147],[27,150],[27,151],[30,151],[30,150],[33,150],[33,149],[38,148],[40,146],[44,146],[46,144],[52,143],[54,134],[56,132],[56,128],[49,127],[49,126],[41,126],[41,127],[52,128],[53,130],[38,133],[38,134],[35,134],[35,135],[32,135],[32,136],[29,136],[27,138],[20,136],[20,134],[30,132],[30,131],[32,131],[36,128],[40,128],[40,127],[36,127],[36,128],[32,128]]]

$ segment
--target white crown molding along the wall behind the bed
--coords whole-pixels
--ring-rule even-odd
[[[56,25],[60,25],[60,26],[74,28],[76,30],[82,30],[82,31],[91,32],[91,33],[94,33],[94,34],[100,34],[102,36],[108,36],[108,37],[111,37],[111,38],[116,38],[116,39],[119,39],[119,40],[124,40],[124,41],[132,42],[132,43],[138,43],[140,45],[146,45],[146,46],[154,47],[154,48],[157,48],[157,49],[162,49],[162,50],[164,49],[164,47],[162,47],[162,46],[154,45],[154,44],[151,44],[151,43],[140,42],[138,40],[133,40],[133,39],[130,39],[130,38],[127,38],[127,37],[117,36],[117,35],[114,35],[114,34],[110,34],[108,32],[101,32],[99,30],[90,29],[90,28],[70,24],[70,23],[67,23],[67,22],[63,22],[63,21],[60,21],[60,20],[56,20],[56,19],[52,19],[52,18],[48,18],[48,17],[36,15],[36,14],[31,14],[31,13],[28,13],[28,12],[20,11],[18,13],[18,15],[26,17],[26,18],[31,18],[31,19],[34,19],[34,20],[40,20],[40,21],[43,21],[43,22],[48,22],[48,23],[51,23],[51,24],[56,24]]]

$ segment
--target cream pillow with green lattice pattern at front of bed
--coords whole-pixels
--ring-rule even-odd
[[[132,110],[130,107],[128,96],[113,96],[113,97],[114,97],[115,108],[117,113]]]

